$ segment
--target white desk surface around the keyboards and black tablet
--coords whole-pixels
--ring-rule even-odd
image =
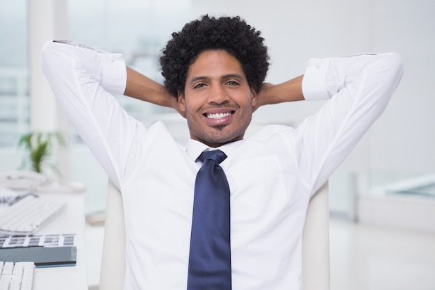
[[[75,266],[36,268],[33,290],[87,290],[83,193],[40,193],[41,198],[67,201],[67,207],[37,234],[76,234]]]

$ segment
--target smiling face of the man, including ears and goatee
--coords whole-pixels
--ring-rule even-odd
[[[190,65],[179,108],[190,138],[209,147],[241,140],[251,122],[256,93],[239,61],[224,50],[204,51]]]

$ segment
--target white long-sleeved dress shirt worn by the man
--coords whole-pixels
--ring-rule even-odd
[[[49,42],[42,69],[69,120],[122,191],[125,289],[186,289],[195,160],[206,145],[146,128],[122,95],[120,54]],[[302,289],[309,198],[384,111],[402,76],[394,53],[311,59],[305,99],[329,99],[297,128],[271,125],[220,147],[231,189],[233,290]]]

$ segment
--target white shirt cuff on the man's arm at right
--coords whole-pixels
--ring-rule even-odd
[[[330,95],[327,89],[329,58],[310,58],[302,79],[302,93],[306,100],[325,100]]]

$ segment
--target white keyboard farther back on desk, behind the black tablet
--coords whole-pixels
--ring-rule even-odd
[[[51,218],[65,209],[66,202],[26,195],[0,210],[0,235],[26,236],[35,234]]]

